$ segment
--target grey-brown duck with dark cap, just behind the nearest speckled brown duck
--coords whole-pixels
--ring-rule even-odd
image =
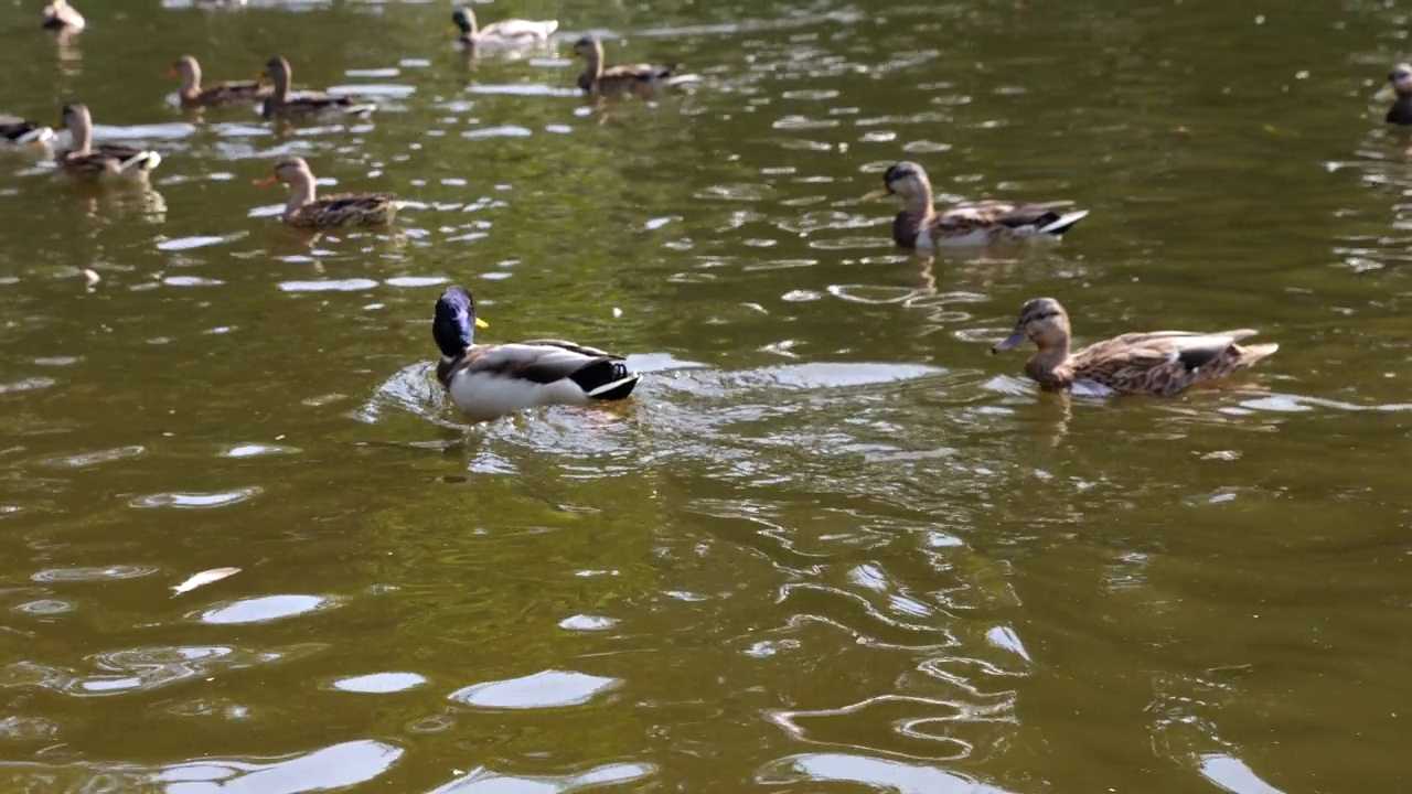
[[[1012,203],[983,201],[938,213],[932,206],[932,181],[916,162],[898,162],[882,174],[882,188],[864,199],[897,195],[904,209],[892,220],[892,240],[919,251],[940,247],[993,246],[1059,237],[1089,215],[1087,209],[1059,215],[1072,201]]]

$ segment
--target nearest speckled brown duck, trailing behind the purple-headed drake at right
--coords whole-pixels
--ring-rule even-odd
[[[1171,397],[1187,386],[1226,377],[1279,349],[1276,343],[1237,345],[1258,331],[1219,333],[1152,331],[1124,333],[1069,353],[1069,315],[1053,298],[1035,298],[1019,309],[1015,332],[990,349],[1012,350],[1025,340],[1039,348],[1025,374],[1045,389],[1063,391],[1076,381],[1121,394]]]

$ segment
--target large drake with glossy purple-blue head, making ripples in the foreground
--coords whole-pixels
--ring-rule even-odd
[[[436,300],[436,380],[474,421],[535,405],[623,400],[642,377],[627,369],[623,356],[562,339],[476,345],[476,329],[486,326],[465,287],[448,287]]]

